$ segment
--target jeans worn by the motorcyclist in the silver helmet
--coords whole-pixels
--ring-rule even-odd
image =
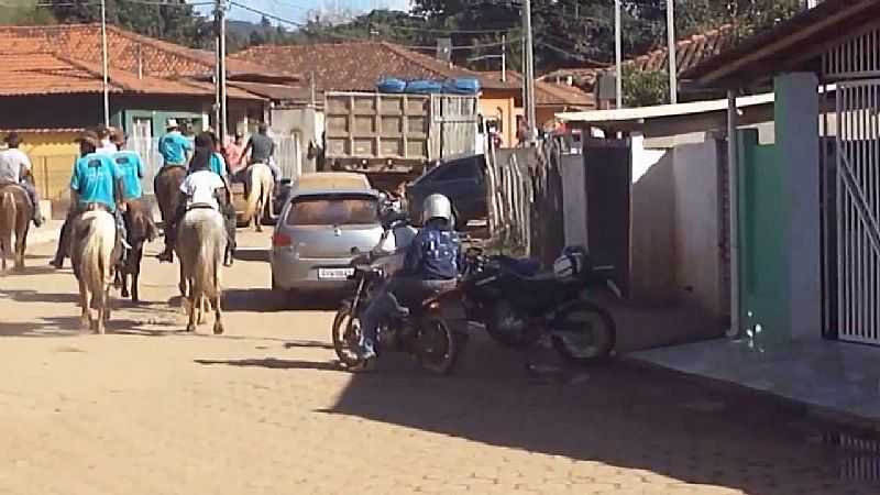
[[[421,277],[393,276],[370,301],[361,314],[361,348],[367,352],[375,351],[378,327],[395,315],[406,315],[406,307],[420,305],[428,296],[437,294],[455,280],[424,280]],[[400,304],[403,299],[403,305]]]

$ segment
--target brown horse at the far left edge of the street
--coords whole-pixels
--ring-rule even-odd
[[[0,257],[7,270],[7,257],[14,257],[15,270],[24,270],[24,250],[31,228],[33,205],[28,193],[16,184],[0,185]],[[12,244],[12,235],[15,244]]]

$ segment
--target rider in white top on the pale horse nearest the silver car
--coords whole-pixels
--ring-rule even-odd
[[[180,185],[180,191],[186,197],[186,201],[178,206],[165,230],[166,245],[175,245],[177,228],[186,212],[193,208],[211,208],[228,217],[232,198],[226,176],[221,175],[219,170],[224,172],[226,164],[217,153],[217,138],[212,133],[204,132],[196,138],[196,152],[189,163],[189,174]],[[165,260],[160,257],[160,261]]]

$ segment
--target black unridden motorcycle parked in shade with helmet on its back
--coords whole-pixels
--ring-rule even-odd
[[[530,260],[486,256],[469,249],[460,284],[462,304],[470,321],[483,323],[488,334],[510,348],[527,348],[549,337],[563,358],[594,363],[612,355],[617,331],[610,314],[583,298],[588,287],[607,285],[617,293],[613,267],[592,266],[559,278],[538,273]]]

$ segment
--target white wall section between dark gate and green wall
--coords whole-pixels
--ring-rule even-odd
[[[632,184],[634,298],[693,307],[707,323],[725,314],[717,146],[710,140],[663,152]]]

